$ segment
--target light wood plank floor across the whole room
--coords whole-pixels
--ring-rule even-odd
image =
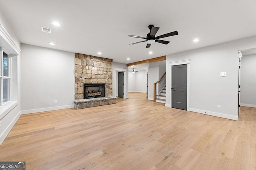
[[[21,115],[0,161],[27,170],[256,169],[256,108],[239,121],[164,107],[144,93],[117,104]]]

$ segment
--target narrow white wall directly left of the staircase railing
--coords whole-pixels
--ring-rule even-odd
[[[148,100],[154,99],[154,83],[159,80],[159,67],[148,68]]]

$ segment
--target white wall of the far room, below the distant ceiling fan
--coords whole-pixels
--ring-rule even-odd
[[[147,93],[147,72],[129,72],[129,92]]]

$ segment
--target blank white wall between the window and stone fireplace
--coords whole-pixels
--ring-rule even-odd
[[[74,53],[21,47],[22,114],[74,107]]]

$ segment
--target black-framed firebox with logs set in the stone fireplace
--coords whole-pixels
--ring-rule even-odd
[[[106,97],[106,84],[84,84],[84,99]]]

